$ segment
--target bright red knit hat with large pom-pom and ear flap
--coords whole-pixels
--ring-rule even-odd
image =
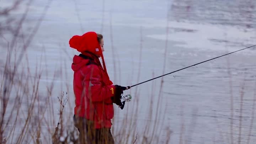
[[[85,51],[89,51],[93,54],[100,55],[102,58],[103,68],[107,72],[103,53],[101,50],[100,43],[98,42],[96,32],[87,32],[82,36],[78,36],[78,35],[73,36],[69,40],[69,46],[71,48],[78,50],[78,52],[81,52],[81,53]]]

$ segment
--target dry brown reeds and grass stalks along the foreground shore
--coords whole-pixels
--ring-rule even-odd
[[[50,5],[50,2],[45,6],[44,12],[37,21],[36,25],[32,28],[32,31],[30,34],[27,35],[26,38],[24,38],[25,34],[22,33],[21,27],[24,23],[28,9],[30,7],[30,3],[28,2],[27,8],[24,12],[24,15],[21,19],[16,21],[11,21],[9,18],[6,18],[5,24],[0,23],[0,33],[11,33],[12,38],[9,42],[5,37],[1,35],[3,39],[5,39],[5,44],[2,44],[3,48],[7,49],[8,56],[5,60],[5,63],[0,66],[0,76],[1,76],[1,84],[0,84],[0,100],[1,100],[1,117],[0,117],[0,144],[79,144],[78,142],[78,132],[74,127],[72,127],[73,123],[70,122],[69,124],[66,124],[65,122],[68,122],[67,117],[63,117],[65,112],[65,106],[68,103],[68,92],[64,94],[60,94],[60,96],[54,96],[53,95],[53,88],[54,88],[54,78],[57,75],[63,75],[62,71],[55,72],[54,78],[52,82],[46,86],[46,94],[41,95],[39,86],[41,84],[40,79],[42,77],[43,68],[40,65],[42,63],[39,62],[39,65],[36,66],[34,71],[30,68],[29,65],[22,65],[21,60],[25,57],[28,63],[28,58],[26,57],[26,49],[30,46],[30,43],[32,42],[32,39],[34,35],[37,33],[37,30],[41,24],[41,21],[44,18],[44,15]],[[4,10],[0,11],[0,15],[8,16],[9,13],[12,10],[15,10],[18,5],[22,3],[22,0],[17,0],[14,2],[14,4],[6,8]],[[103,4],[105,4],[105,1],[103,1]],[[75,3],[75,5],[77,5]],[[104,14],[104,5],[103,5],[103,14]],[[79,11],[76,6],[77,15],[79,16]],[[167,16],[168,17],[168,16]],[[104,19],[104,15],[102,17],[102,21]],[[80,21],[80,20],[79,20]],[[7,27],[11,22],[17,22],[16,27]],[[110,25],[112,22],[110,21]],[[82,25],[81,30],[83,30]],[[103,29],[103,22],[102,22],[102,29]],[[111,27],[112,31],[112,27]],[[165,73],[165,65],[166,65],[166,57],[167,57],[167,47],[168,47],[168,33],[169,33],[169,23],[167,21],[166,26],[166,41],[165,41],[165,53],[164,53],[164,65],[163,65],[163,71],[162,73]],[[143,31],[142,28],[140,28],[140,57],[142,58],[142,48],[143,48]],[[113,44],[113,34],[111,32],[111,47],[112,47],[112,53],[114,55],[114,44]],[[18,40],[24,40],[23,46],[18,47],[23,52],[22,53],[16,53],[15,49],[16,43]],[[11,59],[12,56],[15,55],[15,58],[17,59]],[[141,59],[139,59],[141,61]],[[228,61],[228,66],[230,66]],[[115,74],[117,73],[116,63],[114,61],[114,70]],[[119,66],[120,67],[120,66]],[[140,69],[141,65],[139,64]],[[47,68],[46,68],[47,69]],[[140,70],[139,70],[140,71]],[[64,71],[63,71],[64,72]],[[233,85],[232,85],[232,75],[231,70],[228,70],[230,75],[230,142],[227,140],[227,143],[234,144],[234,96],[233,96]],[[119,69],[119,73],[121,73]],[[67,77],[67,74],[65,73],[65,76]],[[119,74],[120,76],[120,74]],[[132,75],[134,76],[134,75]],[[154,73],[152,74],[152,77],[154,78]],[[137,76],[137,80],[140,79],[140,73]],[[115,79],[116,81],[116,79]],[[139,82],[139,81],[137,81]],[[162,126],[159,126],[159,123],[163,123],[165,119],[165,115],[161,117],[163,120],[160,121],[157,118],[160,117],[160,108],[161,103],[163,100],[162,98],[162,87],[164,85],[163,79],[161,79],[160,87],[159,87],[159,93],[154,93],[154,87],[156,86],[155,82],[153,81],[151,83],[151,92],[148,94],[150,97],[150,104],[148,107],[148,111],[145,113],[147,114],[147,117],[149,118],[148,121],[145,122],[145,126],[142,127],[142,132],[138,133],[137,129],[137,123],[139,120],[137,119],[139,115],[139,105],[140,101],[139,99],[133,100],[132,103],[129,103],[132,107],[128,114],[122,119],[120,122],[121,125],[114,127],[114,139],[116,143],[124,143],[124,144],[155,144],[155,143],[171,143],[172,138],[172,130],[170,127],[164,128],[163,124]],[[66,85],[68,87],[68,85]],[[243,101],[244,101],[244,89],[245,84],[242,84],[241,86],[241,93],[240,93],[240,119],[239,119],[239,139],[238,143],[241,143],[242,139],[242,114],[243,114]],[[129,91],[131,92],[131,91]],[[140,95],[141,92],[139,91],[138,87],[136,87],[135,91],[133,91],[133,95]],[[72,93],[72,92],[70,92]],[[158,96],[158,101],[154,102],[154,97]],[[42,97],[44,97],[42,99]],[[58,98],[58,99],[57,99]],[[59,101],[59,119],[56,121],[55,116],[57,113],[55,112],[54,103]],[[256,87],[255,87],[255,94],[254,94],[254,100],[252,105],[252,111],[251,111],[251,121],[250,121],[250,128],[249,128],[249,134],[247,135],[247,141],[246,143],[249,144],[252,136],[252,130],[253,130],[253,124],[254,124],[254,110],[255,110],[255,102],[256,102]],[[153,110],[156,108],[156,112],[153,113]],[[164,113],[166,112],[166,109]],[[189,135],[185,135],[186,128],[185,128],[185,122],[184,122],[184,113],[183,113],[183,106],[180,110],[181,113],[181,126],[180,126],[180,132],[179,132],[179,143],[180,144],[190,144],[191,139],[193,138],[193,133],[197,124],[197,110],[193,111],[193,116],[191,117],[191,125],[188,128]],[[155,114],[155,115],[154,115]],[[72,117],[72,116],[71,116]],[[152,121],[153,125],[152,125]],[[116,120],[114,120],[116,122]],[[218,121],[216,122],[217,124]],[[125,124],[125,125],[124,125]],[[57,125],[57,126],[56,126]],[[71,125],[71,127],[69,126]],[[225,141],[223,138],[223,132],[218,126],[220,130],[220,135],[222,135],[223,142]],[[112,129],[112,130],[113,130]],[[165,129],[165,131],[164,131]],[[164,142],[160,141],[160,136],[162,133],[166,132],[166,139]],[[215,136],[213,136],[215,138]],[[216,143],[216,141],[213,141],[213,143]]]

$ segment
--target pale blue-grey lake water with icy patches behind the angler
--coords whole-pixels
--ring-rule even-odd
[[[7,1],[0,3],[9,4]],[[30,27],[36,24],[46,3],[32,3],[22,28],[25,34],[30,33]],[[25,3],[22,6],[25,7]],[[73,35],[87,31],[102,33],[110,79],[114,84],[128,86],[255,45],[255,6],[255,0],[55,0],[27,49],[18,73],[29,65],[33,77],[36,67],[41,66],[40,99],[44,100],[46,87],[53,82],[55,121],[58,120],[57,96],[68,91],[65,119],[73,126],[71,64],[74,54],[79,54],[68,44]],[[20,16],[22,12],[21,9],[13,15]],[[0,42],[5,45],[5,41]],[[1,49],[2,71],[7,52],[4,46]],[[152,127],[156,124],[154,131],[159,136],[159,143],[164,143],[168,137],[170,144],[181,143],[181,135],[182,143],[187,144],[230,143],[232,89],[234,142],[238,143],[242,120],[241,143],[246,143],[256,90],[255,71],[256,50],[252,48],[164,76],[162,87],[161,78],[133,87],[125,91],[133,100],[126,103],[124,110],[115,107],[113,129],[129,127],[131,123],[122,123],[128,116],[137,122],[132,125],[138,138],[143,137],[145,124]],[[134,116],[134,112],[137,115]],[[153,112],[152,117],[150,112]],[[46,113],[45,117],[48,116]],[[254,144],[256,124],[252,126],[250,143]]]

